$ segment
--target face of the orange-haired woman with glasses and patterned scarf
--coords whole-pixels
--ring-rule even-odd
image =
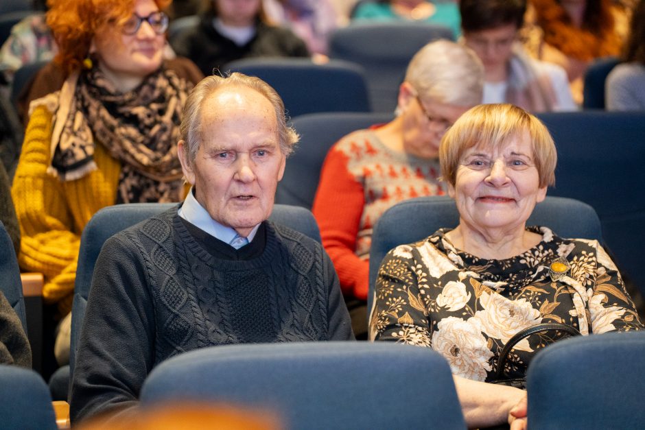
[[[145,18],[159,8],[152,0],[136,0],[133,16]],[[121,91],[137,87],[143,78],[161,67],[165,34],[157,34],[148,21],[141,22],[134,34],[128,35],[106,26],[94,36],[92,49],[99,67]]]

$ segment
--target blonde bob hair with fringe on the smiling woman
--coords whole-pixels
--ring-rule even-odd
[[[455,186],[459,163],[471,147],[497,148],[524,133],[533,146],[540,187],[554,186],[558,155],[549,130],[535,116],[512,104],[480,104],[449,128],[439,146],[443,179]]]

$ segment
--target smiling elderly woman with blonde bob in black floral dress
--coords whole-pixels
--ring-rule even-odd
[[[557,322],[588,335],[643,326],[598,241],[526,226],[556,165],[537,118],[510,104],[477,106],[445,134],[439,157],[459,225],[388,253],[370,334],[441,353],[469,427],[487,427],[526,414],[524,391],[489,383],[521,329]],[[518,375],[542,341],[517,344],[510,366]]]

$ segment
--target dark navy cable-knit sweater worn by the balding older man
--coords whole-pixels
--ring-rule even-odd
[[[185,224],[173,208],[106,241],[76,355],[72,420],[135,405],[152,368],[185,351],[353,339],[319,243],[265,222],[253,241],[266,240],[263,252],[224,259]]]

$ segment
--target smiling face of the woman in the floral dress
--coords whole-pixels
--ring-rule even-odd
[[[528,133],[509,139],[497,150],[471,147],[460,160],[454,187],[448,187],[460,222],[480,232],[524,230],[535,204],[546,197],[535,166]]]

